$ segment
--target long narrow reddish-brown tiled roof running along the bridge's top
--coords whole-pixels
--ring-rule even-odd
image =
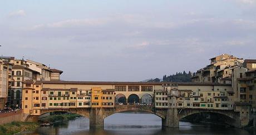
[[[93,82],[93,81],[37,81],[37,83],[45,84],[96,84],[96,85],[162,85],[162,84],[178,84],[188,86],[231,86],[231,84],[220,83],[193,83],[193,82]]]

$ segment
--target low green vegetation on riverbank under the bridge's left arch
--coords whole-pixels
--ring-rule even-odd
[[[81,116],[78,114],[57,114],[57,115],[43,117],[40,119],[40,121],[43,123],[51,123],[56,121],[72,120],[77,117],[81,117]]]

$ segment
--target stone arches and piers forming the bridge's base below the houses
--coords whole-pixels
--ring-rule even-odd
[[[48,112],[71,112],[90,119],[90,127],[104,127],[104,119],[120,112],[148,112],[162,119],[163,127],[179,127],[179,121],[196,113],[215,113],[226,116],[226,123],[234,127],[245,127],[250,121],[250,112],[235,112],[234,110],[197,109],[197,108],[155,108],[145,105],[116,105],[114,108],[68,108],[41,109],[41,115]],[[39,116],[29,116],[26,121],[38,121]]]

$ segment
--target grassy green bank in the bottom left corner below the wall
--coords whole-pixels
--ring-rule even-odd
[[[0,134],[16,134],[38,127],[35,122],[11,122],[0,125]]]

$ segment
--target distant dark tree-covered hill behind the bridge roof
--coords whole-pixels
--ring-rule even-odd
[[[176,74],[163,76],[163,82],[191,82],[191,77],[192,73],[189,71],[189,73],[186,73],[183,71],[181,72],[176,72]],[[149,79],[147,82],[161,82],[161,79],[155,78],[155,79]]]

